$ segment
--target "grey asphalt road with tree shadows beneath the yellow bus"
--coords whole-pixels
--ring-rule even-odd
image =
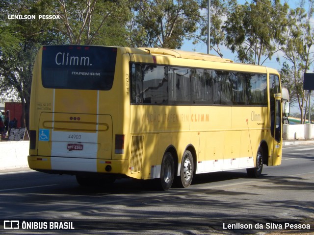
[[[259,179],[245,170],[202,174],[189,188],[166,192],[131,179],[84,189],[74,176],[29,169],[0,173],[0,181],[2,220],[47,222],[48,228],[51,221],[73,222],[76,229],[63,234],[265,234],[288,222],[310,224],[314,233],[314,146],[308,145],[285,147],[282,164],[264,166]],[[257,223],[261,230],[243,227]],[[228,229],[232,224],[242,227]],[[2,225],[1,234],[30,232]],[[43,232],[60,233],[32,234]]]

